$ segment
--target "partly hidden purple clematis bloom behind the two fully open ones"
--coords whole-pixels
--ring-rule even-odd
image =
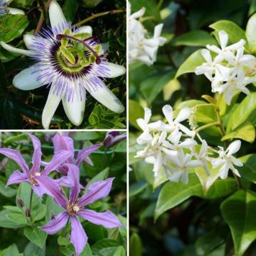
[[[53,146],[54,146],[55,153],[62,150],[72,151],[73,155],[70,156],[70,158],[65,161],[65,164],[73,164],[75,149],[74,149],[74,142],[72,138],[62,136],[60,134],[55,134],[55,136],[53,137]],[[92,154],[93,151],[100,148],[100,146],[102,146],[102,144],[95,144],[92,146],[88,146],[85,149],[81,149],[78,152],[78,157],[75,161],[75,165],[80,167],[80,165],[82,164],[82,161],[85,161],[87,164],[90,164],[90,166],[93,166],[92,160],[90,159],[89,156],[90,154]],[[65,175],[68,174],[68,169],[66,168],[65,165],[61,166],[59,168],[59,171]]]

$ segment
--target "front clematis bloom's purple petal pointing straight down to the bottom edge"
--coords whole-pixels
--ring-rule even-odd
[[[70,216],[70,220],[72,229],[70,242],[72,242],[72,244],[74,245],[75,254],[78,256],[84,250],[88,238],[78,218],[75,216]]]

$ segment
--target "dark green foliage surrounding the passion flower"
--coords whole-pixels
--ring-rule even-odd
[[[14,0],[10,7],[25,11],[26,16],[15,15],[0,18],[0,41],[11,43],[13,46],[25,48],[23,34],[35,33],[42,11],[46,16],[43,27],[50,22],[45,9],[46,0]],[[94,18],[84,25],[92,26],[93,34],[102,43],[108,43],[108,60],[124,65],[126,63],[126,1],[125,0],[63,0],[59,1],[68,21],[73,24],[103,11],[114,9],[124,10],[119,14],[109,14]],[[14,55],[0,46],[0,128],[1,129],[42,129],[41,115],[46,104],[48,89],[46,86],[36,90],[22,91],[11,83],[14,76],[21,70],[33,64],[26,56]],[[107,85],[126,105],[126,75],[107,80]],[[125,128],[126,113],[114,113],[87,94],[85,117],[80,129],[109,129]],[[63,106],[60,104],[51,122],[51,128],[76,129],[68,121]]]

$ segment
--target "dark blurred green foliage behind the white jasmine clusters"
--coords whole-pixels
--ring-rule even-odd
[[[159,48],[154,65],[129,65],[129,164],[132,169],[129,174],[130,255],[234,255],[230,229],[220,211],[220,204],[228,195],[210,200],[192,196],[154,222],[156,201],[162,186],[154,190],[152,165],[141,159],[134,159],[136,152],[142,149],[136,142],[141,134],[136,119],[144,116],[143,107],[146,106],[152,110],[151,120],[156,121],[162,117],[161,108],[166,104],[177,107],[185,100],[203,100],[201,95],[213,96],[210,82],[204,76],[189,73],[175,79],[176,71],[196,50],[207,44],[217,43],[210,24],[228,20],[245,29],[248,18],[256,11],[256,1],[130,0],[130,3],[132,13],[142,6],[146,8],[143,24],[149,32],[153,32],[156,24],[164,23],[162,35],[169,39],[166,45]],[[255,86],[250,85],[250,91],[255,92]],[[238,102],[244,98],[245,95],[240,95]],[[227,121],[228,117],[224,119],[224,122]],[[255,121],[256,119],[252,120],[253,124]],[[223,144],[220,137],[211,136],[210,131],[203,133],[203,137],[213,146]],[[241,156],[255,153],[255,146],[255,142],[242,142]],[[252,172],[253,170],[251,169]],[[181,189],[176,183],[171,183],[170,186],[174,184],[177,190]],[[249,180],[242,178],[242,184],[255,191],[255,176],[250,176]],[[191,191],[192,189],[193,187]],[[234,191],[229,193],[231,192]],[[171,190],[169,193],[171,200],[176,194]],[[187,191],[184,196],[185,193]],[[178,196],[180,199],[184,197],[181,194]],[[174,201],[178,201],[178,196]],[[245,216],[235,210],[231,212],[238,222],[245,220]],[[253,232],[252,236],[255,235]],[[256,255],[255,242],[244,255]]]

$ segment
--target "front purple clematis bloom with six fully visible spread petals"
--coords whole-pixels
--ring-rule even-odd
[[[84,250],[88,239],[78,217],[84,218],[95,225],[103,225],[105,228],[116,228],[123,225],[120,223],[117,216],[110,210],[107,210],[104,213],[97,213],[94,210],[84,209],[85,206],[101,198],[105,198],[110,193],[113,178],[107,178],[105,181],[92,183],[87,192],[78,199],[80,193],[79,169],[78,166],[75,166],[74,164],[67,164],[67,166],[69,169],[68,176],[73,180],[69,199],[65,198],[61,192],[60,186],[58,183],[55,183],[53,179],[47,176],[38,177],[38,183],[40,186],[44,187],[48,196],[52,196],[55,202],[65,209],[63,213],[60,213],[45,226],[41,227],[41,230],[53,235],[64,228],[70,219],[70,242],[74,245],[75,253],[78,256],[82,250]]]

